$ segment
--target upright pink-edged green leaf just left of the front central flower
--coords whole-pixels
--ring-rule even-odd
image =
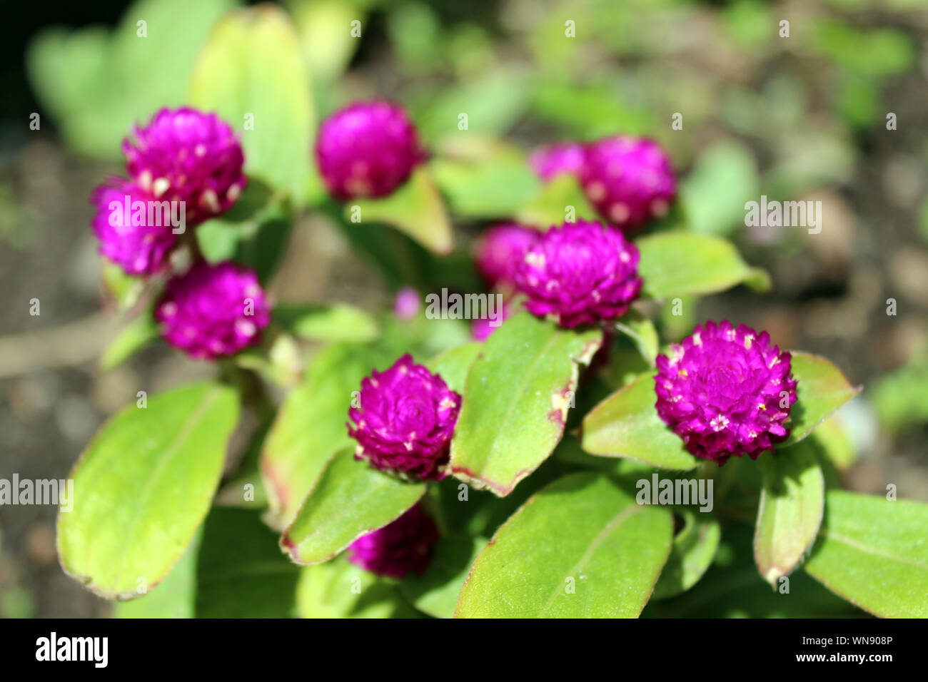
[[[345,426],[352,392],[360,390],[372,369],[392,362],[379,351],[346,343],[313,359],[306,379],[280,406],[261,453],[269,521],[275,527],[293,520],[329,458],[353,443]]]

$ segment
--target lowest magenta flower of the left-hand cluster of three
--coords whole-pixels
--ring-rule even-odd
[[[213,359],[260,341],[271,313],[253,271],[227,262],[198,263],[168,281],[155,319],[171,345],[191,357]]]

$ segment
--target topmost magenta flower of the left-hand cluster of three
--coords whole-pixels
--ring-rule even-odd
[[[155,199],[184,201],[190,225],[227,211],[248,183],[238,136],[213,113],[161,109],[132,136],[122,142],[130,177]]]

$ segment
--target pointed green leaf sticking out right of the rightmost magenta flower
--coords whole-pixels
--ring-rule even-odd
[[[809,353],[791,351],[796,402],[790,410],[790,437],[778,449],[803,440],[832,412],[860,392],[829,360]]]

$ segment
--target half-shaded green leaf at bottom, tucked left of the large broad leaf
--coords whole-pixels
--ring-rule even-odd
[[[480,537],[442,537],[435,543],[426,572],[408,575],[400,583],[400,591],[419,611],[435,618],[453,618],[461,585],[485,545],[486,540]]]

